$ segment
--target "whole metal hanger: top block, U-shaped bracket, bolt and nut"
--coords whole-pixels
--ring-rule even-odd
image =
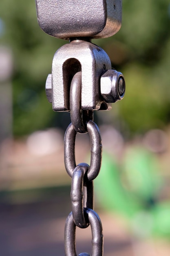
[[[70,40],[53,57],[46,96],[54,111],[70,111],[70,84],[82,72],[82,110],[110,110],[121,100],[125,81],[92,38],[113,36],[121,27],[121,0],[36,0],[38,23],[51,36]]]

